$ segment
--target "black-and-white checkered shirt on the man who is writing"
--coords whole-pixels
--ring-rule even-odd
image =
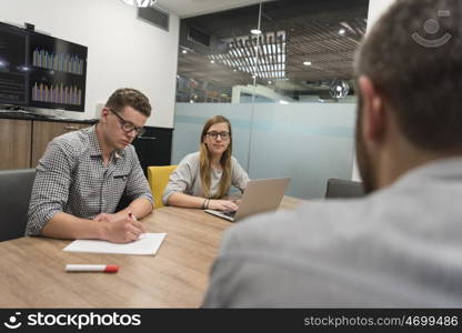
[[[37,167],[26,235],[40,234],[58,212],[90,220],[114,213],[122,194],[153,202],[133,145],[114,151],[104,167],[96,125],[60,135]]]

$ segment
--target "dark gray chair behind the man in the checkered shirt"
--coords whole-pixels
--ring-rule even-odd
[[[36,169],[0,171],[0,242],[22,238]]]

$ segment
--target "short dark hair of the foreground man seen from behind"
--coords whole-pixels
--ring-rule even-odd
[[[462,148],[461,31],[461,0],[398,0],[360,49],[356,75],[374,82],[421,149]]]

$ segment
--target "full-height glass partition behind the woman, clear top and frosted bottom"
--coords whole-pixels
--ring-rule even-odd
[[[264,1],[182,19],[172,163],[222,114],[251,178],[291,176],[287,194],[303,199],[322,198],[329,178],[351,179],[353,59],[368,7]]]

